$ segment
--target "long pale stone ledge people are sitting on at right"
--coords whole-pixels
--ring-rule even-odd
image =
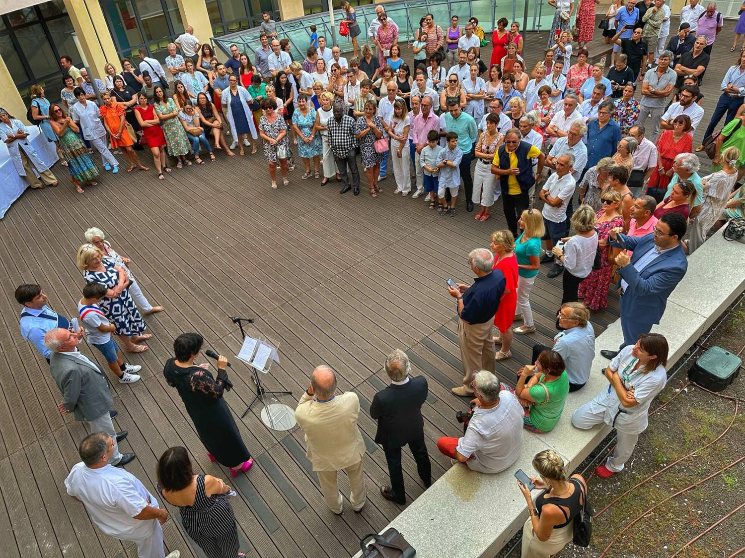
[[[662,322],[653,327],[653,332],[664,334],[670,344],[668,368],[744,289],[745,246],[724,240],[720,231],[691,255],[688,272],[668,300]],[[514,472],[523,469],[533,474],[533,455],[547,447],[559,452],[574,469],[610,432],[609,426],[575,429],[571,414],[606,388],[600,370],[608,361],[600,356],[600,350],[615,350],[622,339],[620,321],[597,337],[597,357],[587,385],[568,395],[562,419],[552,432],[524,431],[522,453],[510,469],[485,475],[462,464],[452,466],[387,527],[401,531],[416,548],[417,557],[494,556],[527,518]],[[474,529],[477,522],[480,528]]]

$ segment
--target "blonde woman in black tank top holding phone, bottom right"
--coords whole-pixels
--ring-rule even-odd
[[[582,475],[567,476],[562,456],[544,449],[533,458],[539,478],[530,477],[534,488],[543,490],[530,497],[530,488],[517,485],[527,502],[528,517],[522,529],[522,558],[548,558],[561,551],[574,536],[574,518],[585,507],[587,484]]]

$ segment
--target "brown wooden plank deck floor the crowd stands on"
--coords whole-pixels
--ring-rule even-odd
[[[545,33],[530,39],[532,64]],[[723,50],[715,48],[720,55]],[[488,48],[484,58],[489,60]],[[710,70],[702,129],[724,71],[718,65]],[[60,179],[66,176],[63,167],[54,170]],[[413,373],[428,378],[423,411],[434,478],[450,466],[435,440],[457,435],[454,414],[466,402],[449,393],[461,372],[445,281],[472,280],[466,256],[488,246],[495,228],[504,228],[501,202],[489,222],[475,222],[460,208],[454,218],[438,217],[422,199],[393,196],[392,178],[382,183],[384,193],[371,199],[364,186],[358,197],[340,196],[337,184],[321,187],[302,181],[301,173],[298,164],[291,185],[273,191],[261,155],[230,160],[218,155],[217,164],[175,170],[163,182],[153,172],[107,174],[84,195],[63,179],[56,189],[28,191],[8,211],[0,222],[2,557],[136,556],[132,545],[102,534],[83,506],[66,496],[63,479],[79,461],[76,447],[86,431],[57,412],[59,392],[44,360],[19,338],[13,299],[17,284],[39,283],[51,307],[74,315],[83,286],[75,250],[90,226],[103,228],[115,248],[131,257],[150,301],[168,309],[147,318],[154,335],[150,351],[130,358],[143,365],[142,381],[112,385],[119,411],[115,423],[130,432],[122,451],[138,457],[127,470],[150,490],[156,460],[169,446],[186,446],[195,469],[229,478],[206,458],[177,392],[162,376],[174,337],[185,331],[202,333],[206,347],[235,354],[241,340],[229,315],[256,318],[255,333],[280,342],[281,364],[267,388],[292,390],[283,403],[294,405],[312,369],[326,363],[337,372],[339,388],[355,391],[365,411],[360,426],[368,449],[368,504],[355,514],[347,503],[340,517],[323,503],[302,432],[270,431],[259,419],[260,405],[238,422],[257,461],[247,475],[229,479],[238,491],[233,506],[242,548],[250,556],[348,556],[358,550],[360,536],[380,530],[402,510],[378,493],[378,485],[387,484],[387,466],[372,441],[375,423],[367,413],[375,392],[387,385],[382,363],[393,348],[406,350]],[[514,378],[511,371],[527,362],[534,343],[547,344],[554,334],[561,283],[548,279],[547,271],[544,266],[531,295],[538,331],[516,338],[514,358],[498,365],[504,379]],[[609,310],[592,316],[596,332],[617,317],[618,299],[612,297]],[[82,349],[105,368],[97,350]],[[253,384],[242,365],[233,367],[231,377],[235,388],[226,400],[240,417],[253,398]],[[410,454],[404,452],[403,460],[407,496],[416,498],[424,487]],[[340,485],[347,493],[343,475]],[[167,548],[200,556],[177,518],[171,515],[164,526]]]

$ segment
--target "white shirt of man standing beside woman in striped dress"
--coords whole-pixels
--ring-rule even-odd
[[[116,539],[148,536],[157,519],[134,519],[145,506],[158,507],[155,496],[130,472],[112,465],[91,469],[83,461],[72,466],[65,488],[85,504],[93,522]]]

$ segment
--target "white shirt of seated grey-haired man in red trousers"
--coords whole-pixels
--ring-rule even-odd
[[[511,466],[522,449],[524,411],[515,394],[499,392],[499,405],[476,407],[466,434],[458,440],[456,451],[466,458],[473,471],[500,472]]]

